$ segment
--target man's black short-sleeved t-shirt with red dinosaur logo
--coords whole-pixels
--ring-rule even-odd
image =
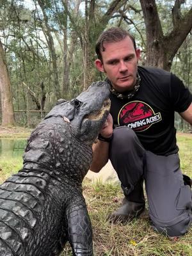
[[[178,152],[175,111],[188,109],[192,95],[180,79],[159,68],[138,67],[140,88],[131,99],[118,99],[111,93],[114,127],[126,125],[136,132],[141,144],[154,154]]]

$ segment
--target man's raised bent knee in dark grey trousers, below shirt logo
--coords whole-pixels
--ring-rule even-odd
[[[133,186],[143,176],[145,149],[138,137],[127,127],[117,127],[109,146],[109,159],[122,185]]]

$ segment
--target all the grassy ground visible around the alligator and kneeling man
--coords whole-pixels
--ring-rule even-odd
[[[183,173],[192,176],[192,136],[178,134],[179,154]],[[22,159],[0,161],[0,180],[3,182],[22,166]],[[15,170],[15,171],[12,171]],[[192,228],[183,236],[170,238],[155,232],[150,226],[147,211],[127,225],[113,225],[107,221],[117,209],[123,194],[118,185],[95,183],[84,179],[83,193],[92,220],[95,256],[192,256]],[[72,255],[69,244],[61,256]]]

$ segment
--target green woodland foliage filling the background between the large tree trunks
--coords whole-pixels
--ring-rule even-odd
[[[85,77],[91,77],[91,81],[102,79],[103,77],[93,65],[96,58],[95,41],[100,32],[110,26],[122,26],[134,35],[136,44],[141,49],[140,64],[145,64],[145,22],[142,17],[140,1],[125,1],[124,4],[120,1],[111,15],[106,15],[106,13],[110,4],[115,1],[88,1],[88,16],[84,10],[84,3],[81,3],[77,10],[77,1],[68,1],[68,6],[61,0],[41,1],[43,10],[38,5],[38,1],[31,0],[31,3],[33,8],[29,9],[25,1],[0,0],[0,37],[4,44],[10,73],[14,109],[36,109],[36,103],[24,84],[35,93],[35,98],[40,103],[42,97],[40,84],[44,82],[45,109],[49,110],[57,100],[55,74],[58,74],[59,86],[61,92],[63,91],[61,96],[65,99],[71,99],[83,90],[84,73]],[[156,0],[164,35],[170,33],[173,28],[172,8],[174,3],[173,0]],[[181,4],[182,17],[189,8],[191,8],[189,0]],[[87,25],[86,19],[88,20]],[[65,28],[67,28],[67,35],[65,35]],[[52,47],[48,31],[51,33],[56,49],[57,69],[52,66]],[[64,36],[67,36],[67,49],[65,50],[63,50]],[[86,44],[88,45],[89,62],[87,70],[84,70],[84,47]],[[191,49],[192,40],[189,34],[177,52],[172,65],[172,72],[181,77],[189,88],[192,84]],[[67,56],[69,86],[63,90],[65,55]],[[19,116],[17,121],[20,124],[27,125],[29,123],[26,113],[17,113],[17,116]],[[36,119],[39,120],[38,116]],[[183,128],[181,127],[181,129]]]

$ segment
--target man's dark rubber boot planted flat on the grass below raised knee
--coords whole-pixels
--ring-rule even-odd
[[[127,195],[127,189],[124,190],[124,200],[119,209],[113,212],[108,220],[111,223],[127,223],[140,216],[145,210],[145,198],[143,195],[143,179],[134,186],[134,190]]]

